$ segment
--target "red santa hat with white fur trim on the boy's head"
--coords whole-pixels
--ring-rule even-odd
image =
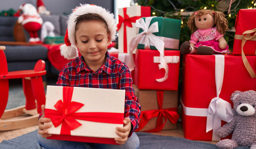
[[[72,14],[70,14],[69,20],[67,21],[67,31],[64,37],[65,44],[60,46],[61,55],[68,60],[78,56],[78,49],[75,46],[75,20],[78,16],[89,13],[101,16],[107,22],[111,41],[116,38],[116,23],[113,14],[100,6],[81,4],[80,7],[73,9]]]

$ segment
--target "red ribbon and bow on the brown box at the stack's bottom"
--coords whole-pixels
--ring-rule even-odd
[[[158,117],[156,121],[156,128],[151,130],[146,130],[145,132],[159,132],[163,129],[164,125],[166,124],[166,120],[169,119],[173,124],[179,119],[179,114],[176,112],[177,107],[175,108],[167,108],[163,109],[163,98],[164,98],[164,91],[156,91],[157,98],[158,98],[158,106],[159,109],[151,110],[151,111],[141,111],[141,120],[139,124],[139,128],[137,131],[143,129],[146,124],[148,124],[149,120],[153,117]],[[164,118],[164,123],[163,123]]]

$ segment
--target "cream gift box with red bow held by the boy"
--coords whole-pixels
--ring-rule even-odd
[[[115,131],[123,127],[124,108],[125,90],[47,86],[49,138],[116,144]]]

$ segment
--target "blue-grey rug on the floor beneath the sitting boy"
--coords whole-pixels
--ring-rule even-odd
[[[45,149],[39,146],[36,138],[37,130],[27,133],[20,137],[12,138],[11,140],[3,140],[0,143],[0,148],[8,149]],[[162,135],[153,135],[151,133],[145,132],[136,132],[140,138],[140,149],[200,149],[200,148],[217,148],[216,145],[205,142],[197,142],[193,140],[187,140],[185,138],[171,137],[171,136],[162,136]],[[246,147],[239,147],[236,149],[249,149]]]

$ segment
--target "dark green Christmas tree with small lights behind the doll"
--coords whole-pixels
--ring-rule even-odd
[[[255,0],[133,0],[133,4],[150,6],[152,16],[163,16],[181,19],[180,43],[190,39],[191,32],[187,27],[187,20],[194,11],[211,9],[223,12],[229,21],[229,30],[225,32],[225,39],[232,51],[235,34],[235,19],[240,9],[252,9],[256,6]]]

